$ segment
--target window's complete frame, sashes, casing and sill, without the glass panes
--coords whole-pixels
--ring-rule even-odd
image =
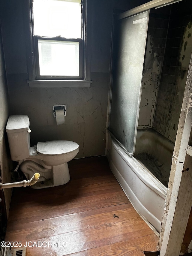
[[[91,28],[87,26],[87,1],[82,0],[82,39],[69,39],[61,37],[41,37],[33,35],[33,0],[23,0],[24,8],[24,29],[26,34],[26,51],[29,80],[29,87],[90,87],[91,86],[91,34],[88,38],[88,31]],[[27,6],[26,6],[27,5]],[[26,8],[28,12],[26,12]],[[79,42],[79,76],[40,76],[39,75],[39,57],[38,57],[38,39],[56,40],[56,41],[78,41]]]

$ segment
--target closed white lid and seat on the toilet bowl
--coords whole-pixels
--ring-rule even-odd
[[[37,152],[42,155],[62,155],[73,152],[79,148],[76,142],[69,140],[52,140],[38,142]]]

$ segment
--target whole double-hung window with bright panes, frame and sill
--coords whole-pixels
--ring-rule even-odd
[[[90,87],[85,11],[81,0],[31,2],[30,87]]]

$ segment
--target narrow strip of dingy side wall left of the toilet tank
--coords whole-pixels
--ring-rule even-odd
[[[0,26],[1,27],[1,26]],[[5,134],[5,126],[8,118],[8,104],[7,104],[7,82],[4,68],[4,56],[1,40],[1,29],[0,29],[0,176],[2,177],[3,183],[10,182],[10,169],[11,161],[10,157],[7,156],[9,152],[7,145],[7,136]],[[7,216],[9,212],[11,189],[4,189],[4,197],[6,204]]]

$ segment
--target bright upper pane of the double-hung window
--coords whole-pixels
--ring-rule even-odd
[[[81,38],[80,0],[34,0],[34,35]]]

